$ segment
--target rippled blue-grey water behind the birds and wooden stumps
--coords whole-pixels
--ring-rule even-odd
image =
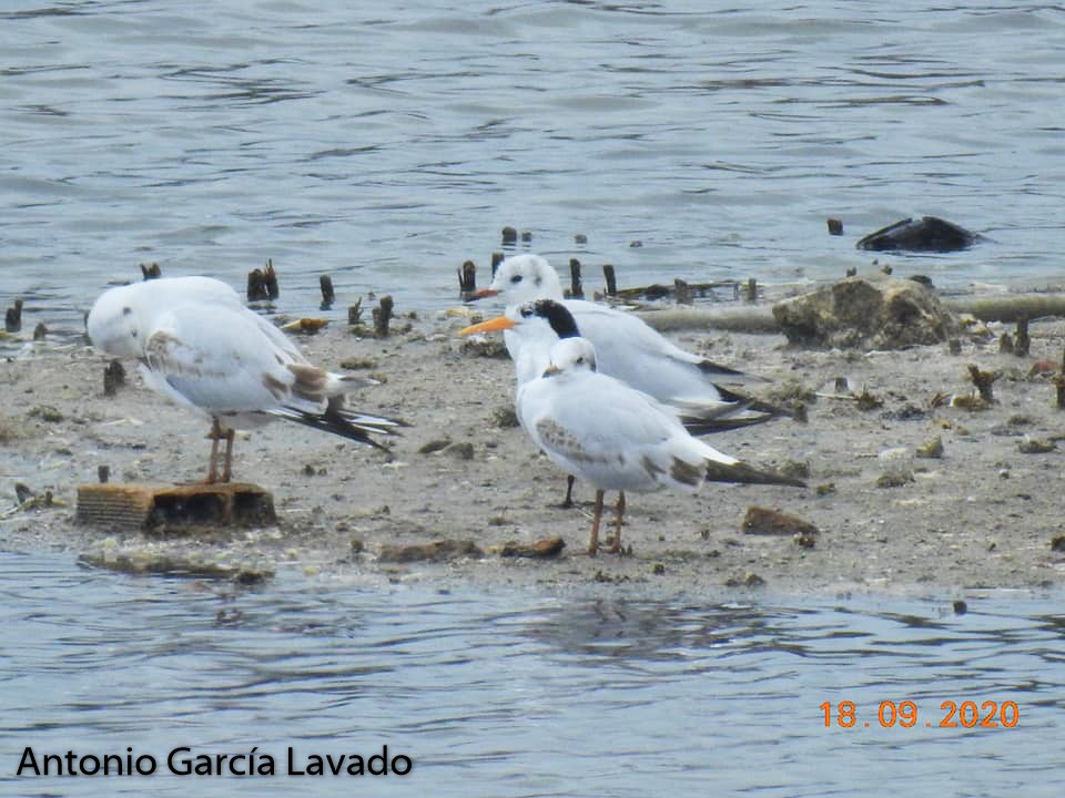
[[[152,260],[433,310],[504,225],[592,287],[838,277],[921,214],[995,243],[904,273],[1059,275],[1061,6],[7,0],[0,31],[0,297],[53,329]]]

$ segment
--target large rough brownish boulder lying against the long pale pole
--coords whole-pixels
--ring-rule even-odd
[[[773,306],[773,317],[791,344],[901,349],[941,344],[954,331],[954,317],[920,283],[850,277]]]

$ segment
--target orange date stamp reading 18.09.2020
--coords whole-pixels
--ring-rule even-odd
[[[875,718],[860,717],[858,705],[854,702],[824,702],[821,704],[824,713],[824,726],[831,728],[912,728],[921,719],[917,717],[917,705],[912,700],[892,702],[882,700],[876,708]],[[940,712],[932,719],[924,719],[925,727],[940,728],[1013,728],[1021,723],[1021,709],[1016,702],[985,700],[945,700],[940,704]]]

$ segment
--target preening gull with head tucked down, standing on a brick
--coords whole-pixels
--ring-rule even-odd
[[[211,277],[110,288],[89,311],[87,330],[97,349],[136,359],[149,388],[211,420],[209,483],[230,481],[234,428],[282,418],[384,449],[372,436],[403,426],[347,409],[344,393],[365,380],[308,362],[284,332]]]

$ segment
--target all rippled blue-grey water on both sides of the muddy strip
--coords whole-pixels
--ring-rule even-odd
[[[75,332],[139,263],[277,309],[455,303],[499,229],[588,285],[871,268],[934,214],[993,243],[881,256],[936,284],[1059,280],[1065,10],[884,4],[6,0],[0,304]],[[825,233],[841,217],[846,235]],[[576,234],[587,235],[577,244]],[[630,246],[635,243],[641,246]],[[1053,597],[763,600],[197,583],[0,554],[0,794],[280,795],[311,779],[14,780],[20,751],[415,761],[322,794],[1057,796]],[[921,723],[881,728],[883,700]],[[1014,700],[1015,728],[939,728]],[[824,727],[820,705],[862,722]],[[931,719],[933,727],[924,726]],[[193,789],[190,789],[192,785]],[[353,786],[354,785],[354,786]]]

